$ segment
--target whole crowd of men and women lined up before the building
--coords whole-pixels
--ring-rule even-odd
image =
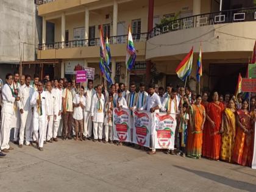
[[[13,148],[9,146],[10,130],[13,141],[20,148],[35,143],[40,151],[43,145],[63,140],[93,140],[117,143],[113,140],[113,108],[165,112],[176,115],[177,127],[174,149],[167,154],[182,157],[224,160],[251,166],[254,152],[255,99],[251,103],[243,95],[219,96],[196,94],[190,87],[167,85],[166,90],[154,84],[146,86],[134,82],[87,88],[73,80],[50,80],[46,75],[40,81],[37,74],[31,84],[30,75],[7,74],[1,85],[1,152],[0,157]],[[249,110],[249,108],[251,110]],[[148,154],[155,154],[151,144]],[[140,146],[136,146],[140,148]]]

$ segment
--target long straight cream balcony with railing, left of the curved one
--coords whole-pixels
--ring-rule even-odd
[[[148,33],[132,36],[137,55],[144,58]],[[110,37],[109,43],[112,57],[126,56],[127,35]],[[98,59],[99,38],[39,44],[37,57],[38,59]]]

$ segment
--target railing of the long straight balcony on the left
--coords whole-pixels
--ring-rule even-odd
[[[133,42],[146,42],[148,38],[148,33],[143,34],[133,34]],[[109,38],[110,44],[126,44],[127,35],[113,36]],[[74,40],[74,41],[64,41],[55,43],[39,44],[38,49],[68,49],[68,48],[80,48],[88,46],[99,46],[99,38],[93,38],[89,40]]]

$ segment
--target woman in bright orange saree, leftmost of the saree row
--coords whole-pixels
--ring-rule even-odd
[[[202,154],[202,131],[205,122],[205,108],[201,104],[202,97],[200,94],[196,96],[195,104],[191,105],[192,113],[190,113],[190,134],[188,140],[190,144],[187,148],[188,157],[201,158]]]

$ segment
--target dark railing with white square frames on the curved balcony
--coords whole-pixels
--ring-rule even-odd
[[[170,21],[167,24],[154,27],[154,29],[149,32],[149,38],[181,29],[243,21],[256,21],[255,7],[250,9],[224,10],[221,12],[206,13],[180,18],[178,20]]]

